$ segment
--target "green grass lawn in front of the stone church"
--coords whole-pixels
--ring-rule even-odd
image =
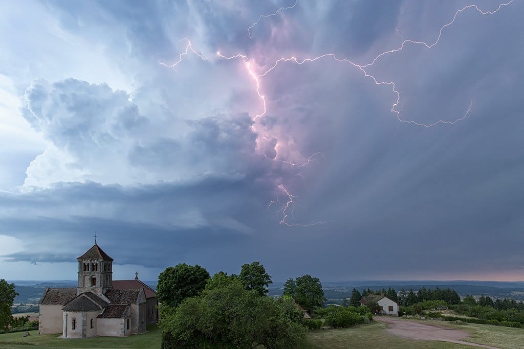
[[[0,348],[26,349],[26,348],[160,348],[160,330],[157,325],[149,325],[144,334],[134,334],[128,337],[94,337],[86,339],[61,339],[60,334],[39,335],[38,331],[29,331],[31,334],[22,337],[24,332],[0,334]]]

